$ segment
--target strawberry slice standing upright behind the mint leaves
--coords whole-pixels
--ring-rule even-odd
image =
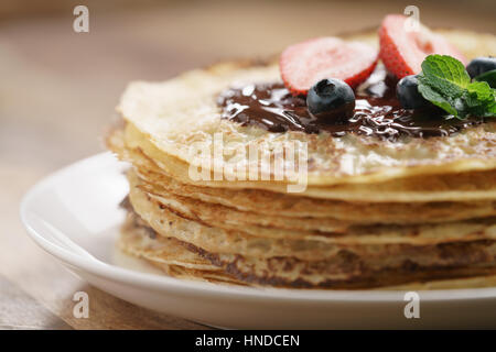
[[[466,64],[463,54],[442,35],[420,23],[418,31],[408,31],[406,21],[405,15],[389,14],[379,29],[379,57],[391,74],[398,78],[419,74],[430,54],[450,55]]]

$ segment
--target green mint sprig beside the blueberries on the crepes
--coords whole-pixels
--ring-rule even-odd
[[[463,64],[448,55],[425,57],[419,75],[419,92],[459,119],[496,117],[496,90],[485,80],[471,81]]]

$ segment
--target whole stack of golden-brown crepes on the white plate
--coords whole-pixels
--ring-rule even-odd
[[[468,58],[495,54],[490,35],[443,34]],[[356,38],[376,42],[375,34]],[[125,252],[172,276],[241,285],[488,285],[496,274],[496,123],[382,141],[271,133],[223,119],[216,99],[224,89],[279,79],[277,63],[238,62],[130,84],[118,108],[125,124],[107,141],[132,164]],[[225,153],[205,163],[218,133],[224,145],[263,145],[272,158]],[[282,163],[283,179],[273,175],[274,154],[288,141],[308,146],[300,193],[288,193],[294,164]],[[229,180],[235,163],[257,163],[272,177]],[[226,173],[220,179],[214,164]],[[206,179],[192,177],[200,168]]]

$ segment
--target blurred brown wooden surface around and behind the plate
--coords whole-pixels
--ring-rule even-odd
[[[19,201],[44,175],[103,151],[101,135],[132,79],[165,79],[215,61],[377,25],[402,1],[171,2],[91,7],[90,32],[72,30],[71,1],[54,15],[0,22],[0,328],[203,329],[114,298],[62,268],[26,237]],[[419,3],[419,2],[417,2]],[[496,33],[494,1],[420,2],[429,25]],[[76,319],[75,292],[90,297]]]

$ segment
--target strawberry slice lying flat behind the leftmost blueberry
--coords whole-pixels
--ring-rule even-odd
[[[338,78],[355,88],[376,67],[377,51],[364,43],[337,37],[317,37],[289,46],[281,54],[281,77],[293,95],[308,90],[324,78]]]

